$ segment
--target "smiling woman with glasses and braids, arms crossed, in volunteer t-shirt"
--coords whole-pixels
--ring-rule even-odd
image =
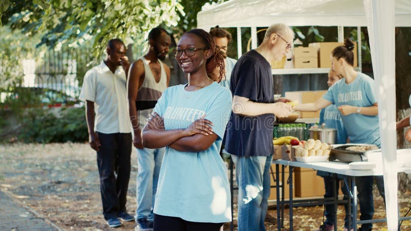
[[[185,32],[173,50],[189,83],[167,88],[142,131],[143,146],[166,147],[154,205],[155,231],[217,231],[231,221],[227,167],[219,155],[231,92],[208,74],[224,60],[211,35]]]

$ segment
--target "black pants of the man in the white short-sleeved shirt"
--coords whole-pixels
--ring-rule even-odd
[[[126,211],[133,140],[131,133],[97,134],[101,144],[97,152],[101,201],[104,219],[108,220]]]

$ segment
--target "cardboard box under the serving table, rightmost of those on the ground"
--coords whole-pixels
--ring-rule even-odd
[[[302,168],[294,171],[294,185],[296,197],[318,197],[324,196],[324,179],[317,176],[317,171]]]

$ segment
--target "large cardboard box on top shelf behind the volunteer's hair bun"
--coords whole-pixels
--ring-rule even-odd
[[[357,61],[357,43],[354,43],[354,49],[352,50],[354,52],[354,67],[358,66],[358,61]],[[327,68],[331,67],[331,61],[330,61],[330,55],[332,50],[335,47],[344,45],[344,43],[338,43],[338,42],[324,42],[324,43],[310,43],[308,44],[309,47],[317,49],[318,52],[318,66],[320,68]]]

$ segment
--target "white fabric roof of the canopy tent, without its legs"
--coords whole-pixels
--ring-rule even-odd
[[[411,1],[395,3],[396,26],[411,27]],[[206,31],[216,25],[268,27],[279,22],[288,26],[367,26],[360,0],[230,0],[203,7],[197,14],[197,27]]]

